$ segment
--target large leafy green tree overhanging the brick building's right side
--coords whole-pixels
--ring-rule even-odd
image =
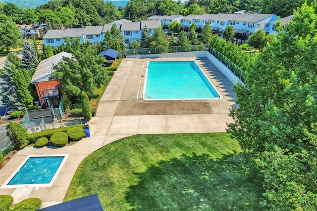
[[[106,84],[107,72],[101,68],[104,58],[95,54],[90,42],[83,43],[79,46],[82,49],[78,50],[76,48],[79,39],[71,42],[66,40],[66,49],[72,50],[76,61],[64,57],[53,67],[55,71],[50,79],[62,83],[62,89],[74,103],[81,91],[93,96],[95,86],[100,88],[101,84]]]

